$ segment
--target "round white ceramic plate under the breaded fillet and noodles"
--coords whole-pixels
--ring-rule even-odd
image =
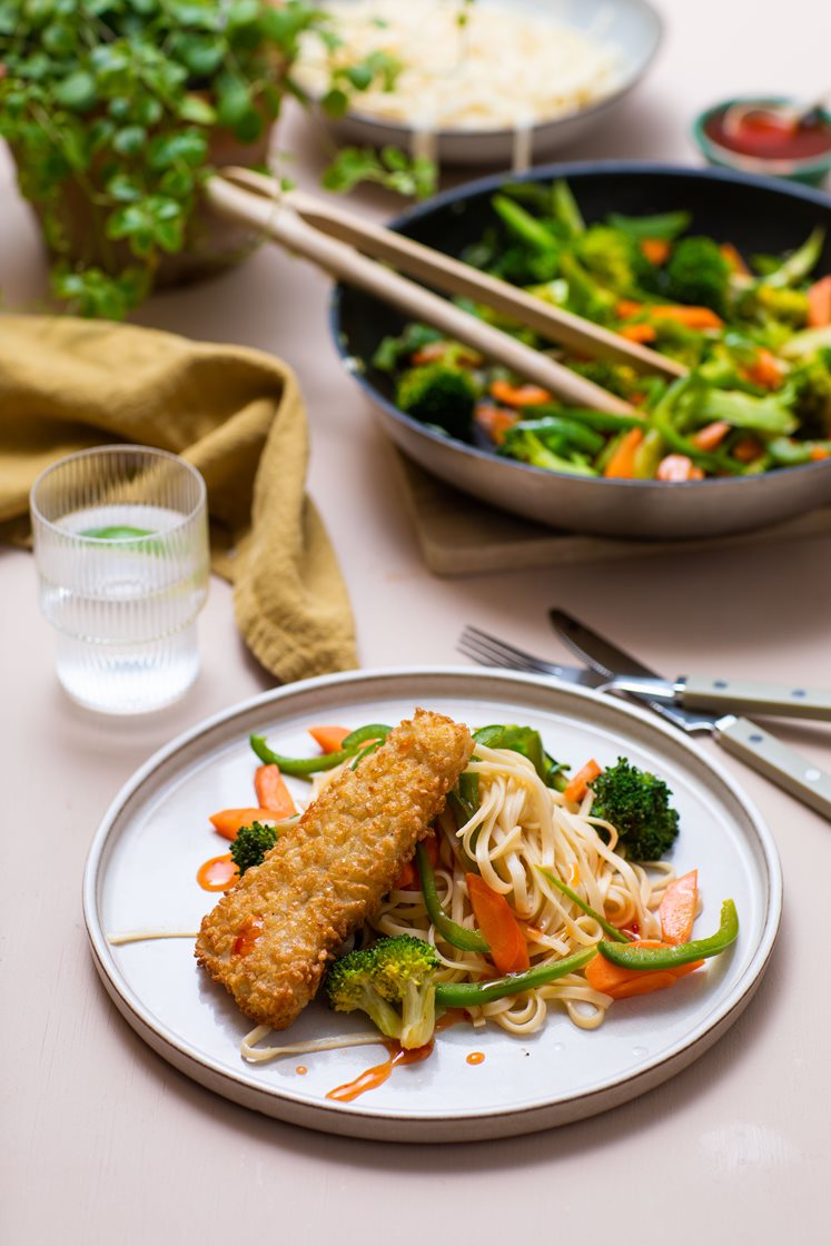
[[[252,802],[250,731],[267,733],[282,753],[311,754],[310,725],[395,724],[416,705],[471,728],[529,724],[553,756],[574,765],[588,756],[604,765],[625,755],[662,775],[680,814],[674,865],[679,872],[700,871],[704,912],[698,930],[715,930],[721,901],[733,897],[741,931],[733,949],[708,962],[706,971],[665,993],[615,1003],[597,1030],[576,1029],[557,1011],[526,1040],[456,1025],[439,1035],[430,1059],[396,1069],[353,1103],[335,1103],[326,1093],[385,1059],[382,1048],[245,1064],[239,1043],[250,1022],[197,967],[192,941],[112,946],[107,936],[198,928],[217,897],[197,886],[196,871],[227,849],[207,819],[217,809]],[[305,802],[308,785],[289,782]],[[237,1103],[328,1133],[453,1141],[578,1120],[690,1064],[736,1019],[759,984],[779,926],[781,876],[770,832],[734,780],[645,711],[534,677],[416,668],[295,684],[174,740],[135,775],[98,827],[83,905],[96,964],[113,1002],[183,1073]],[[315,1002],[284,1040],[355,1029],[360,1023],[354,1017],[335,1015]],[[473,1050],[483,1053],[481,1064],[467,1063]],[[299,1074],[298,1065],[308,1073]]]

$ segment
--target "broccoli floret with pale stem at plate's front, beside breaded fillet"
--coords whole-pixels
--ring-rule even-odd
[[[325,992],[335,1012],[365,1012],[381,1034],[401,1047],[424,1047],[436,1027],[435,948],[411,934],[381,938],[339,957]],[[400,1011],[399,1011],[400,1009]]]

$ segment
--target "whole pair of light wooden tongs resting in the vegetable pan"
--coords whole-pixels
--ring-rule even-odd
[[[629,402],[573,373],[551,355],[517,341],[386,265],[446,294],[485,303],[581,355],[625,363],[639,373],[660,376],[677,378],[685,373],[683,365],[647,346],[324,199],[303,191],[283,191],[275,179],[262,173],[226,168],[208,179],[206,194],[223,216],[273,238],[348,285],[356,285],[412,319],[434,325],[571,406],[615,415],[637,414]]]

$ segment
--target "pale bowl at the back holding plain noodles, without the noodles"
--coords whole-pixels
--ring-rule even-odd
[[[662,21],[648,0],[614,0],[613,4],[609,0],[507,0],[507,4],[547,16],[558,26],[597,35],[613,50],[617,62],[608,91],[586,107],[539,121],[527,135],[511,128],[439,130],[432,143],[422,141],[419,150],[441,164],[518,168],[573,145],[601,125],[609,110],[640,82],[660,45]],[[339,138],[349,142],[405,148],[417,145],[415,131],[405,123],[361,113],[360,96],[354,112],[340,121],[325,120]]]

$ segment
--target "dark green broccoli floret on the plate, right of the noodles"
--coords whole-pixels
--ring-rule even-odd
[[[658,861],[678,836],[678,812],[663,779],[639,770],[625,758],[589,784],[592,817],[617,827],[618,847],[633,861]]]

